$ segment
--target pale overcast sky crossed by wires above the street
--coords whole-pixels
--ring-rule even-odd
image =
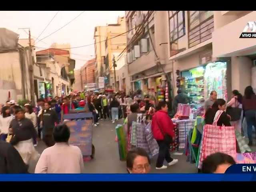
[[[18,34],[20,39],[28,38],[28,30],[19,28],[30,28],[31,38],[36,39],[46,28],[58,11],[0,11],[0,28],[7,28]],[[59,11],[46,30],[38,40],[58,30],[73,20],[83,11]],[[124,16],[124,11],[85,11],[70,24],[58,32],[35,44],[36,51],[49,48],[57,42],[58,44],[70,43],[71,47],[84,46],[94,43],[94,27],[106,26],[117,22],[118,16]],[[76,60],[76,68],[79,69],[87,60],[94,56],[94,45],[82,48],[72,48],[71,58]]]

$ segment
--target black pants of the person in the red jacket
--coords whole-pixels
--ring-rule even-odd
[[[158,158],[156,161],[156,167],[160,168],[163,166],[164,160],[166,160],[168,163],[172,162],[173,158],[171,158],[169,148],[170,145],[166,144],[164,141],[157,141],[159,146],[159,153]]]

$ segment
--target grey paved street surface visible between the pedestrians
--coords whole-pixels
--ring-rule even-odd
[[[122,122],[119,120],[119,122]],[[115,124],[118,124],[115,123]],[[93,127],[93,144],[96,148],[95,158],[89,162],[84,162],[84,173],[126,173],[126,162],[121,162],[118,156],[118,146],[114,142],[114,124],[108,120],[100,120],[98,127]],[[39,142],[36,149],[38,152],[46,148],[43,142]],[[166,170],[156,170],[156,159],[152,160],[152,173],[196,173],[195,164],[186,162],[184,155],[172,155],[179,162]],[[34,173],[36,162],[30,163],[29,171]]]

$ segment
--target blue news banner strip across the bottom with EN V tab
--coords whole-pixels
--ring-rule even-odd
[[[236,164],[225,174],[0,174],[0,181],[256,181],[256,164]]]

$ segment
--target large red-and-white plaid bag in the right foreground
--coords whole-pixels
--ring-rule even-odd
[[[200,149],[201,150],[201,149]],[[202,138],[202,153],[200,154],[200,165],[210,154],[221,152],[236,159],[236,134],[232,126],[204,126]]]

